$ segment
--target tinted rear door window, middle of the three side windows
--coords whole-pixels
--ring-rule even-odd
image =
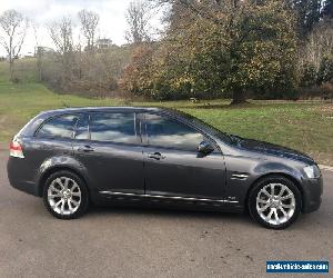
[[[134,113],[91,113],[91,140],[137,143]]]

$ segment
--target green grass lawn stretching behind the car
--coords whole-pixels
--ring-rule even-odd
[[[0,142],[7,143],[31,117],[42,110],[83,106],[163,106],[183,110],[216,128],[242,137],[302,150],[333,166],[333,103],[253,101],[230,107],[225,100],[130,102],[57,95],[43,85],[13,85],[0,69]]]

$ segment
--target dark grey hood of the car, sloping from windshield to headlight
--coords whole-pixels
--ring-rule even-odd
[[[240,137],[235,137],[238,141],[238,146],[242,149],[249,150],[249,151],[254,151],[263,155],[269,155],[269,156],[275,156],[275,157],[282,157],[282,158],[289,158],[289,159],[294,159],[299,160],[309,165],[314,163],[314,160],[309,157],[307,155],[286,148],[282,147],[279,145],[270,143],[270,142],[264,142],[264,141],[259,141],[259,140],[253,140],[253,139],[244,139]]]

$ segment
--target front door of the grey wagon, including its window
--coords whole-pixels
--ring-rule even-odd
[[[203,132],[168,116],[141,115],[145,193],[162,197],[223,199],[225,167],[218,147],[203,156]]]

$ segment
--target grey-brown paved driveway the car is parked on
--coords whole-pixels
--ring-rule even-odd
[[[6,163],[0,151],[1,278],[265,277],[270,259],[329,259],[332,269],[333,172],[324,172],[319,211],[273,231],[243,215],[138,208],[57,220],[41,199],[9,186]]]

